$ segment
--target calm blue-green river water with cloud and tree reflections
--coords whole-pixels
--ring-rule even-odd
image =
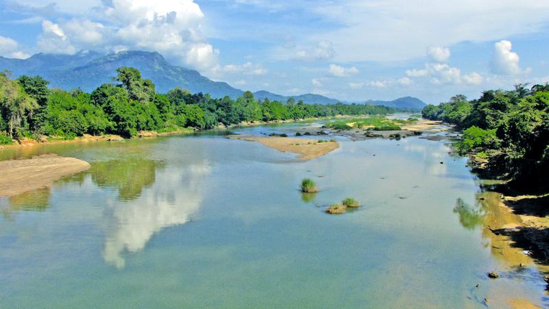
[[[0,307],[549,306],[537,267],[476,225],[478,181],[446,142],[341,139],[306,162],[216,135],[3,150],[91,169],[0,198]],[[364,207],[323,212],[347,196]]]

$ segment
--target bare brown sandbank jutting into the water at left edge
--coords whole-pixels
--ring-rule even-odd
[[[63,176],[90,168],[89,163],[58,155],[41,155],[32,159],[0,161],[0,196],[14,196],[49,187]]]

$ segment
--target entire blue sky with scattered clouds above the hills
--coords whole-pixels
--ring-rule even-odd
[[[549,1],[0,1],[0,56],[128,49],[245,90],[438,103],[548,82]]]

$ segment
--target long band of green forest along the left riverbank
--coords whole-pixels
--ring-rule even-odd
[[[199,130],[242,122],[386,115],[394,108],[368,104],[303,104],[255,100],[250,91],[232,100],[175,88],[156,93],[151,80],[131,67],[120,67],[112,83],[91,93],[49,89],[40,76],[10,80],[0,73],[0,144],[43,135],[73,138],[84,134],[134,137],[141,130]]]

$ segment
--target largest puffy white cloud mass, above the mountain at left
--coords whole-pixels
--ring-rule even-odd
[[[219,50],[202,34],[204,14],[193,0],[110,0],[102,1],[94,12],[102,22],[43,21],[38,49],[54,54],[74,54],[81,49],[140,49],[159,52],[194,69],[219,69]]]

